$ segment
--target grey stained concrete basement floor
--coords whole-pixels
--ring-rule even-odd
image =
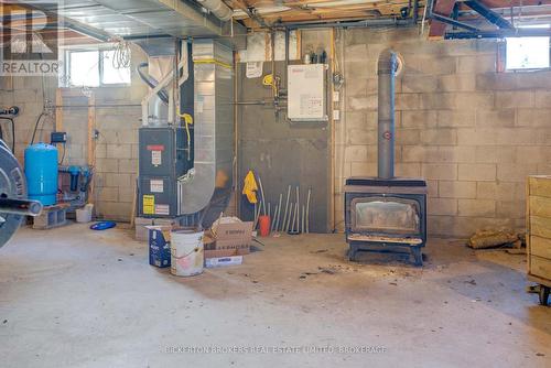
[[[418,269],[347,262],[342,235],[262,241],[184,279],[130,230],[21,229],[0,249],[0,366],[551,366],[551,309],[525,292],[523,256],[431,239]]]

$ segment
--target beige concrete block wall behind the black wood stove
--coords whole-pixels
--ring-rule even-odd
[[[426,41],[418,30],[348,30],[345,119],[336,123],[335,216],[344,180],[377,174],[377,57],[406,63],[397,80],[396,172],[429,182],[429,231],[467,237],[525,226],[525,180],[551,173],[551,72],[496,73],[497,42]]]

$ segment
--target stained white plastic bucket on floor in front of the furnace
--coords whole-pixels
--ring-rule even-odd
[[[171,232],[171,273],[192,277],[203,273],[203,234],[197,230]]]

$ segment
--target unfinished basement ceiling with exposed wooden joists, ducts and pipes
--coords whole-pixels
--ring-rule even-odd
[[[442,39],[451,30],[494,32],[497,26],[512,31],[519,22],[534,20],[543,22],[547,19],[551,21],[551,0],[224,0],[224,2],[234,9],[234,25],[240,28],[240,24],[236,24],[238,21],[253,30],[298,24],[341,26],[339,22],[365,22],[364,26],[377,25],[378,22],[411,25],[415,19],[422,17],[426,4],[429,4],[429,15],[435,14],[431,20],[430,39]],[[32,3],[44,4],[46,0],[35,0]],[[171,8],[174,4],[177,7]],[[0,8],[3,13],[10,12],[19,17],[17,20],[11,20],[13,26],[24,25],[24,18],[29,17],[22,9],[24,10],[21,6],[14,4],[4,4]],[[417,13],[413,14],[415,10]],[[89,33],[91,29],[99,32],[98,37],[105,34],[104,40],[107,40],[105,37],[109,37],[109,34],[127,37],[160,34],[197,36],[198,34],[194,33],[197,32],[197,28],[207,29],[203,20],[212,20],[208,11],[198,7],[196,2],[192,3],[191,0],[125,0],[120,3],[110,0],[79,0],[78,6],[60,8],[55,11],[60,19],[67,20],[67,26],[71,26],[72,32],[94,36],[96,33]],[[188,24],[183,24],[182,19]],[[40,21],[39,18],[33,18],[33,22]],[[208,31],[225,35],[226,29],[218,25],[215,26],[216,30],[208,28]],[[241,30],[245,31],[242,28]],[[201,34],[205,36],[204,32]]]

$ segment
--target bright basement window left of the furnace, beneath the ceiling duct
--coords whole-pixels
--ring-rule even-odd
[[[71,50],[65,54],[66,87],[130,85],[130,66],[119,67],[114,50]]]

